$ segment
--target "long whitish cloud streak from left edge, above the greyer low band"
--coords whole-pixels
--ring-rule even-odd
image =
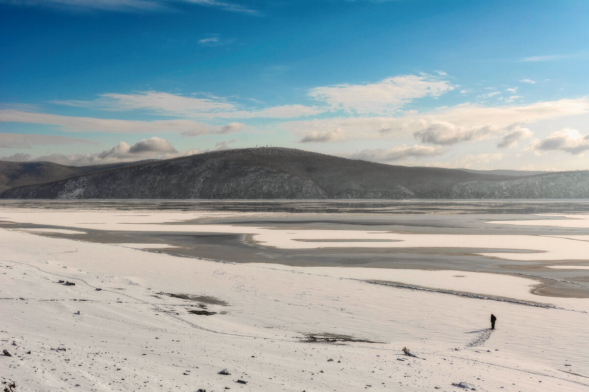
[[[187,119],[133,121],[92,117],[70,117],[56,114],[22,112],[0,109],[0,122],[25,122],[28,124],[57,125],[70,132],[113,133],[169,133],[205,135],[226,132],[226,127],[213,127]]]

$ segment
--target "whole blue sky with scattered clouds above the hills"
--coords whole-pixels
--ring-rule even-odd
[[[589,168],[589,2],[0,0],[0,159]]]

